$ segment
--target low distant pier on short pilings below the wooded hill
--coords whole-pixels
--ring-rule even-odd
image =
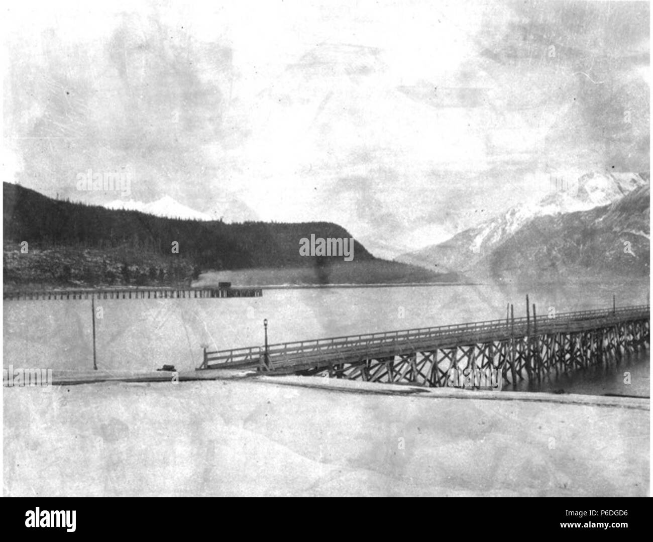
[[[8,301],[24,300],[68,300],[68,299],[198,299],[198,298],[231,298],[231,297],[261,297],[261,288],[107,288],[107,289],[75,289],[47,291],[17,291],[4,292],[3,299]]]

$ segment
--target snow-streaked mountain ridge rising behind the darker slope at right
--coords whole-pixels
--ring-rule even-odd
[[[571,183],[554,182],[549,193],[539,201],[512,207],[504,214],[460,232],[443,243],[400,256],[398,261],[440,271],[469,271],[495,247],[537,217],[605,206],[647,184],[646,174],[599,172],[583,175]]]

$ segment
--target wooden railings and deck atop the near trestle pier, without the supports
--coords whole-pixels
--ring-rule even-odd
[[[554,317],[520,317],[479,322],[444,325],[428,328],[386,331],[359,335],[346,335],[324,339],[276,343],[222,351],[204,351],[200,369],[220,366],[240,366],[261,362],[267,355],[268,362],[291,362],[298,358],[333,357],[334,359],[356,353],[379,353],[401,351],[402,345],[412,347],[442,340],[477,340],[494,336],[498,339],[520,337],[551,332],[573,332],[612,323],[643,319],[650,315],[650,306],[639,305],[616,309],[599,309],[556,313]]]

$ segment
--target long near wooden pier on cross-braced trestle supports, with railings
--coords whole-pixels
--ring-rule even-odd
[[[257,368],[428,387],[453,370],[494,372],[502,386],[600,366],[650,343],[650,306],[558,313],[210,352],[198,370]],[[449,383],[449,385],[451,385]]]

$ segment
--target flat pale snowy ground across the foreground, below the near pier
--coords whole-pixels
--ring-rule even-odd
[[[648,401],[458,392],[309,377],[5,388],[4,494],[648,494]]]

